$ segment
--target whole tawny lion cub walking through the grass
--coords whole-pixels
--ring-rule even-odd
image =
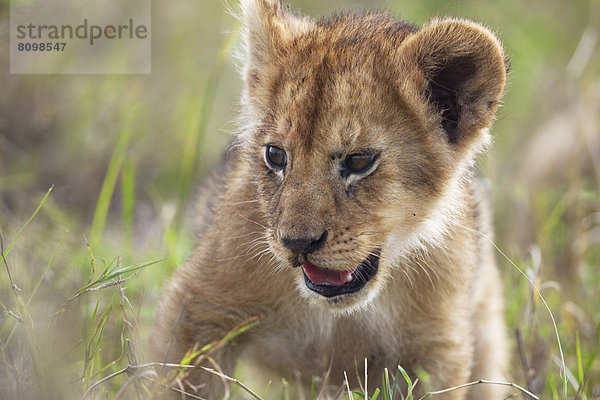
[[[242,127],[200,203],[198,244],[167,284],[154,335],[179,362],[212,354],[369,388],[400,364],[415,391],[503,380],[500,280],[474,158],[503,92],[502,45],[471,21],[301,16],[242,0]],[[166,354],[166,356],[165,356]],[[210,362],[209,362],[210,361]],[[393,374],[393,373],[392,373]],[[223,381],[184,388],[218,398]],[[262,389],[261,389],[262,390]],[[499,399],[494,385],[440,399]]]

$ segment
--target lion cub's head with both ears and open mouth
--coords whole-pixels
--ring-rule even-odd
[[[313,21],[243,0],[244,128],[270,249],[313,302],[348,311],[439,242],[489,140],[503,50],[470,21]]]

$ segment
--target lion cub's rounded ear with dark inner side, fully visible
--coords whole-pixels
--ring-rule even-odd
[[[449,143],[467,149],[487,142],[507,72],[502,45],[488,29],[435,19],[402,43],[400,57],[405,83]]]

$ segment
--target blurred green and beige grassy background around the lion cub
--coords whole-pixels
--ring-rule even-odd
[[[418,24],[453,15],[497,32],[511,74],[480,165],[502,252],[507,380],[542,398],[564,398],[565,381],[568,398],[600,398],[600,1],[291,5],[388,9]],[[151,361],[162,283],[193,246],[193,199],[234,134],[238,22],[226,8],[153,1],[150,75],[10,75],[0,0],[0,399],[78,398]],[[121,290],[89,290],[154,260]],[[92,397],[133,396],[127,382]]]

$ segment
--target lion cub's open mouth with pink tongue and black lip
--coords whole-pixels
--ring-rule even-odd
[[[353,270],[333,271],[316,267],[308,261],[302,264],[306,286],[325,297],[358,292],[375,276],[378,268],[379,252],[367,257]]]

